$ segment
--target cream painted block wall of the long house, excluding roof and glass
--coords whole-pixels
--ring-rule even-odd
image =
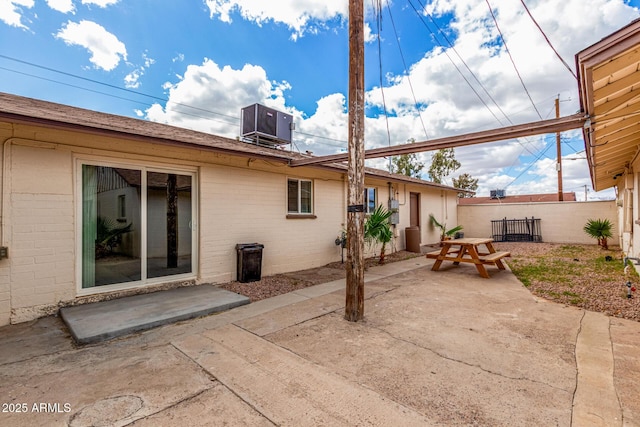
[[[335,239],[346,228],[347,206],[342,172],[17,124],[0,123],[0,140],[1,239],[9,248],[9,258],[0,260],[0,325],[114,295],[80,289],[82,162],[194,173],[197,263],[189,279],[194,283],[235,280],[238,243],[264,244],[263,275],[340,260]],[[312,180],[313,217],[287,215],[288,178]],[[427,226],[430,212],[455,222],[453,191],[419,184],[390,187],[386,180],[369,177],[365,185],[377,189],[379,204],[388,206],[390,194],[401,202],[400,223],[388,252],[405,247],[411,191],[421,194],[423,243],[437,241],[437,233]],[[370,248],[369,255],[377,252],[379,248]],[[116,291],[121,296],[141,289]]]

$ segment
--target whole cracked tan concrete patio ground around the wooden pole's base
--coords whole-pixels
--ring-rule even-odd
[[[358,323],[338,280],[82,348],[0,328],[0,425],[640,425],[640,323],[432,263],[370,269]]]

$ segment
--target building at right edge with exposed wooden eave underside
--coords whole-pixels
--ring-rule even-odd
[[[640,257],[640,20],[576,55],[583,134],[596,191],[615,187],[620,246]]]

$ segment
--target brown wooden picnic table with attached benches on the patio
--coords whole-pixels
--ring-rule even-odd
[[[486,265],[495,265],[500,270],[504,270],[502,258],[511,256],[511,253],[505,251],[496,251],[493,247],[492,238],[465,237],[462,239],[443,240],[442,249],[427,253],[427,258],[433,258],[436,262],[431,268],[432,271],[438,271],[443,261],[452,261],[454,265],[461,262],[475,264],[480,276],[488,279]],[[486,249],[480,250],[480,246]]]

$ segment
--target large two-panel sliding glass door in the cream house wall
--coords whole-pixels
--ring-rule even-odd
[[[81,165],[82,288],[190,275],[194,174]]]

